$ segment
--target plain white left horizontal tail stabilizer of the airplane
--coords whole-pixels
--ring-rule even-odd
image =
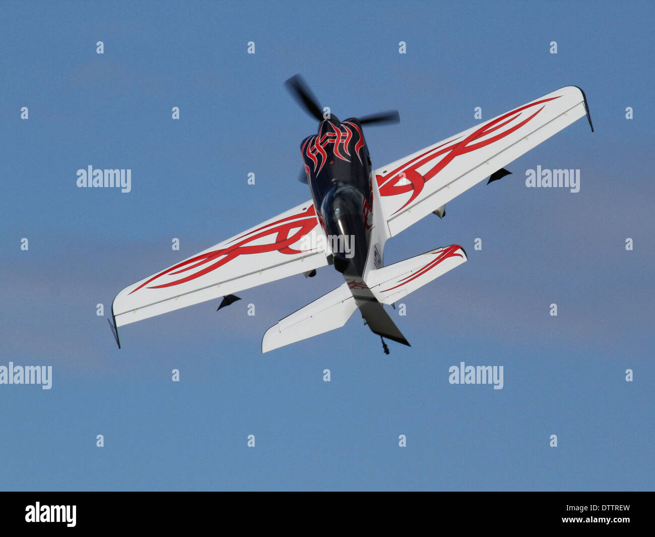
[[[263,353],[272,351],[341,328],[355,309],[357,309],[355,299],[348,284],[343,283],[269,328],[261,341],[261,351]]]

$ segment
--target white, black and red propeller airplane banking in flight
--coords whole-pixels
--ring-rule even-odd
[[[593,132],[584,92],[563,87],[374,169],[362,129],[396,123],[398,111],[340,121],[300,75],[285,84],[319,122],[300,145],[312,199],[121,290],[109,321],[119,348],[124,325],[222,296],[221,309],[236,292],[327,265],[344,283],[269,328],[262,353],[343,327],[356,309],[386,354],[384,338],[409,346],[383,305],[466,262],[466,252],[450,245],[384,266],[386,241],[428,214],[443,218],[446,203],[510,174],[509,163],[581,117]]]

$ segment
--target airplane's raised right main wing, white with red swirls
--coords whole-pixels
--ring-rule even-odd
[[[388,236],[409,228],[584,115],[591,125],[584,92],[565,87],[375,170]]]

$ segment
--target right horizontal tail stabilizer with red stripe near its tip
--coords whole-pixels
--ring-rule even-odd
[[[367,275],[366,284],[379,302],[392,304],[460,266],[466,260],[466,252],[459,245],[438,248],[388,267],[372,270]]]

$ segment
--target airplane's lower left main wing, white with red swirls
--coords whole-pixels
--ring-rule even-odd
[[[327,265],[311,201],[124,288],[115,327]]]

